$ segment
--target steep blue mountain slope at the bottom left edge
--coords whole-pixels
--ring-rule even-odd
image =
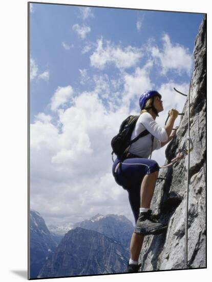
[[[30,278],[37,275],[58,244],[53,239],[41,215],[30,211]]]

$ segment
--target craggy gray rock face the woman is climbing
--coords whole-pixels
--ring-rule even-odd
[[[206,18],[195,42],[194,71],[190,86],[190,152],[188,201],[188,268],[206,267]],[[179,89],[180,90],[180,89]],[[177,94],[176,94],[177,95]],[[188,136],[188,99],[177,135],[166,149],[167,163],[176,156]],[[162,223],[165,234],[146,236],[139,257],[141,271],[184,268],[187,158],[172,168],[162,169],[151,208]]]

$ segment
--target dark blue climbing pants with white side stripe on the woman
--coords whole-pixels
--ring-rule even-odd
[[[140,188],[143,177],[146,174],[159,171],[159,166],[155,160],[147,158],[127,158],[119,165],[118,163],[120,163],[119,158],[113,164],[113,176],[116,183],[128,191],[136,222],[140,209]]]

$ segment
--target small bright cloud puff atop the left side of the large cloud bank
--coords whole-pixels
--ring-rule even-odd
[[[60,106],[65,105],[71,100],[73,89],[70,85],[66,87],[58,87],[51,98],[51,110],[56,111]]]

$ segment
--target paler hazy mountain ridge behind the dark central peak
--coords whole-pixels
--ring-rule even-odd
[[[74,228],[76,227],[97,231],[119,241],[128,248],[134,229],[132,222],[124,215],[108,214],[103,216],[99,213],[90,219],[76,223]]]

